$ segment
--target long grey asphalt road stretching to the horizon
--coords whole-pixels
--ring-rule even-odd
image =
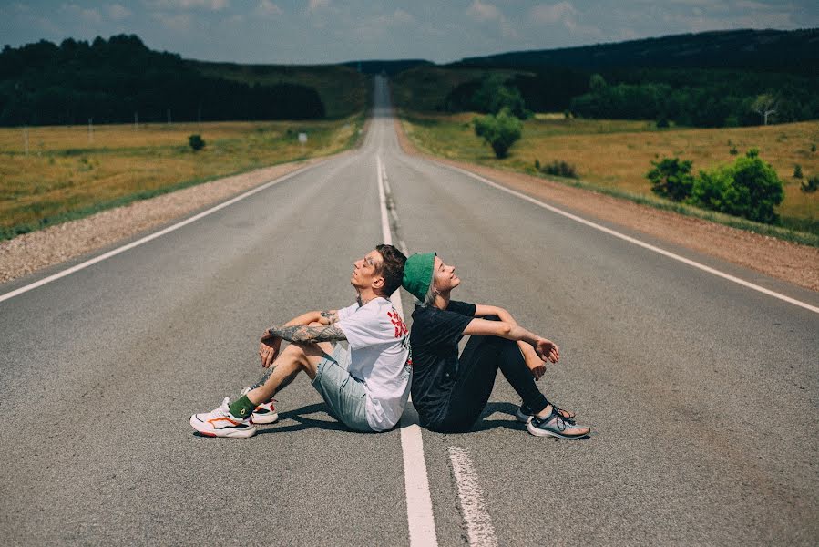
[[[408,157],[375,95],[362,149],[0,302],[0,544],[409,543],[401,431],[345,431],[306,378],[255,438],[188,424],[259,376],[264,327],[353,302],[377,157],[394,239],[555,340],[541,388],[593,428],[528,435],[498,377],[472,432],[424,431],[440,545],[470,537],[453,448],[499,545],[819,542],[819,315]]]

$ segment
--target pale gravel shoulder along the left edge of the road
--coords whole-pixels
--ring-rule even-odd
[[[345,153],[349,152],[342,152]],[[205,182],[0,242],[0,283],[91,253],[139,232],[152,230],[294,170],[332,157],[335,156],[282,163]]]

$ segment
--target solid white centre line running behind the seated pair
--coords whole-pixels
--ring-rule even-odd
[[[390,221],[387,215],[386,194],[384,193],[384,166],[381,156],[375,156],[378,173],[378,198],[381,203],[381,231],[384,243],[393,244]],[[401,249],[406,253],[406,246]],[[399,289],[400,290],[400,289]],[[391,296],[395,309],[404,316],[401,294],[396,290]],[[415,413],[409,408],[401,417],[401,451],[404,453],[404,487],[406,489],[406,518],[409,524],[410,546],[426,547],[438,544],[435,535],[435,517],[432,512],[432,498],[429,494],[429,479],[426,475],[424,440],[418,427]]]

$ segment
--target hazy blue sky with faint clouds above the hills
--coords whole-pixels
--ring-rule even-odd
[[[816,0],[0,0],[0,45],[136,34],[151,49],[244,64],[448,63],[706,30],[815,27]]]

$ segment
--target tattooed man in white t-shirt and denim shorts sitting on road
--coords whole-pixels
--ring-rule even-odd
[[[412,376],[406,325],[389,300],[401,286],[405,262],[392,245],[378,245],[355,261],[350,278],[358,293],[355,304],[271,326],[259,347],[268,373],[233,403],[225,397],[220,407],[194,414],[190,425],[209,437],[251,437],[257,424],[278,418],[272,397],[306,372],[331,414],[348,428],[393,428],[404,412]],[[282,340],[291,344],[280,353]]]

